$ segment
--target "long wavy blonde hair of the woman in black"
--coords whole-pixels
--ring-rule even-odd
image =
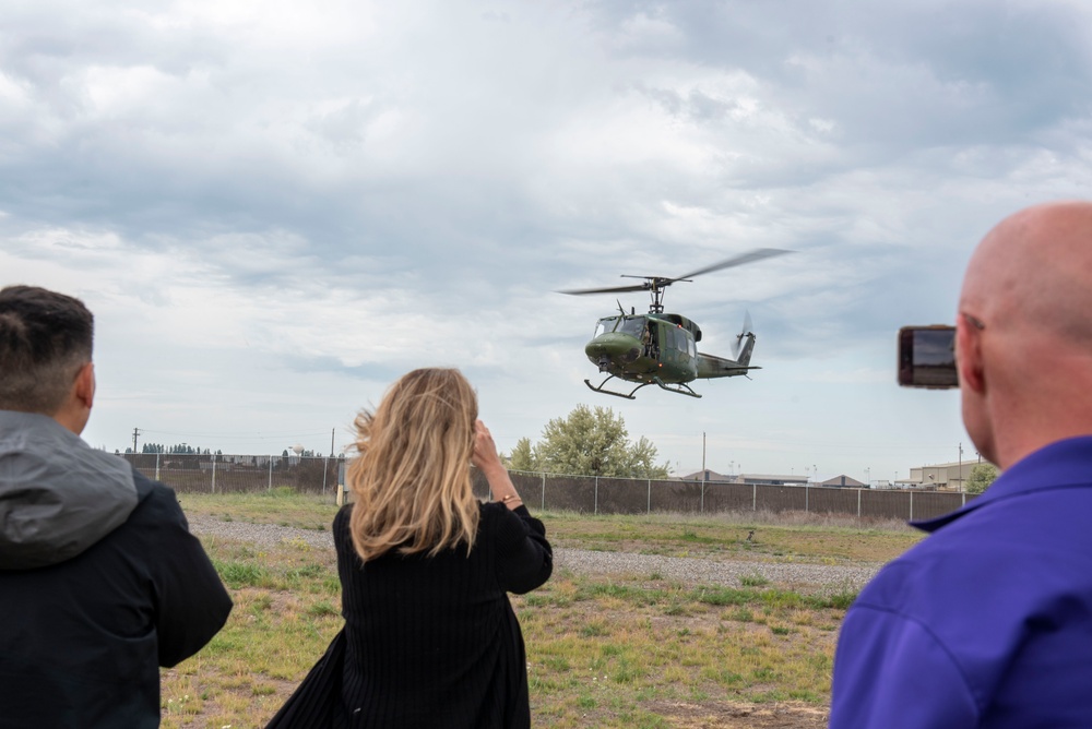
[[[368,561],[397,549],[435,555],[474,547],[471,489],[477,397],[459,370],[422,369],[391,385],[375,413],[357,416],[358,457],[346,481],[356,497],[349,530]]]

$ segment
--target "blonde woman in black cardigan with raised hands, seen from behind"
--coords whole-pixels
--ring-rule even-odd
[[[508,593],[545,583],[551,551],[477,419],[474,390],[458,370],[415,370],[356,428],[355,503],[333,527],[345,617],[344,655],[330,661],[341,666],[333,726],[529,727]],[[488,503],[471,491],[471,463]]]

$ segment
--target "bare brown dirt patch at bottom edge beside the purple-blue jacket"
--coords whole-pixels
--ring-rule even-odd
[[[826,729],[828,709],[804,703],[653,702],[644,708],[682,729]]]

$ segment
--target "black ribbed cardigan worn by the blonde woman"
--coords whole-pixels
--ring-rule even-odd
[[[526,656],[508,593],[549,578],[542,522],[523,506],[483,504],[468,555],[463,546],[436,557],[388,552],[361,564],[351,510],[334,519],[345,616],[339,708],[346,724],[529,727]]]

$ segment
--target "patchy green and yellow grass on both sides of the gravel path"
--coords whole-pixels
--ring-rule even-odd
[[[329,529],[332,499],[274,490],[181,497],[189,514]],[[919,537],[897,525],[743,515],[543,514],[555,547],[715,560],[879,563]],[[812,517],[814,519],[815,517]],[[755,536],[748,541],[747,536]],[[200,654],[164,671],[164,727],[261,727],[341,628],[332,549],[206,539],[236,602]],[[544,727],[822,727],[838,626],[852,594],[744,578],[556,573],[513,597]]]

